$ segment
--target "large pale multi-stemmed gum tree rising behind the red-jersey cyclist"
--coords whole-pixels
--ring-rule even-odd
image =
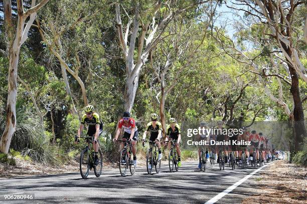
[[[126,85],[124,91],[124,110],[131,111],[136,89],[138,87],[138,79],[140,69],[148,60],[149,52],[157,46],[163,38],[163,34],[167,25],[176,16],[184,15],[187,11],[192,11],[200,4],[206,1],[162,1],[157,0],[155,3],[141,3],[132,1],[129,5],[132,10],[132,15],[128,14],[124,5],[115,3],[116,23],[118,30],[118,37],[120,46],[122,48],[123,56],[125,58],[126,66]],[[125,33],[123,33],[122,16],[120,12],[122,6],[125,15],[127,16],[127,24]],[[132,23],[131,35],[130,25]],[[141,29],[139,29],[141,26]],[[128,45],[128,36],[130,41]],[[137,38],[137,35],[138,38]],[[165,36],[164,36],[165,37]],[[136,43],[138,46],[136,47]],[[136,56],[134,56],[136,52]],[[134,59],[136,59],[134,63]]]

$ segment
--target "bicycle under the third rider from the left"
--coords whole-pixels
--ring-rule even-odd
[[[144,141],[144,142],[147,142],[147,141]],[[160,167],[161,167],[161,160],[158,161],[159,151],[157,149],[157,144],[154,141],[148,141],[148,143],[149,143],[149,149],[148,149],[147,154],[146,154],[147,172],[148,172],[148,174],[151,174],[152,166],[155,165],[156,172],[159,173]],[[143,146],[144,146],[144,144],[143,144]],[[154,151],[152,151],[153,147],[155,148]],[[151,168],[148,168],[149,164],[151,165]]]

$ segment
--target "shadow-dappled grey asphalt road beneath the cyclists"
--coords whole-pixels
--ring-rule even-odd
[[[198,161],[182,163],[178,172],[169,172],[167,163],[159,174],[148,175],[144,166],[137,166],[134,175],[122,177],[118,168],[103,169],[96,178],[90,172],[83,180],[79,172],[0,179],[0,203],[205,203],[227,187],[254,171],[226,164],[207,164],[206,172],[197,169]],[[262,168],[259,172],[266,170]],[[253,179],[259,172],[249,179]],[[240,203],[252,194],[246,180],[216,203]],[[34,200],[5,200],[4,195],[34,194]]]

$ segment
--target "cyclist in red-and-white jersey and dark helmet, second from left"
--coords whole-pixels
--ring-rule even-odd
[[[132,142],[133,164],[136,166],[136,141],[138,132],[135,120],[128,111],[124,111],[122,113],[122,118],[118,121],[118,129],[113,139],[114,142],[117,140],[122,128],[124,129],[122,140],[129,140],[129,142]],[[123,160],[122,162],[124,163],[125,161]]]

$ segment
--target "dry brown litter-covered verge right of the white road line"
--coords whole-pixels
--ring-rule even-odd
[[[251,181],[256,194],[242,203],[307,203],[306,168],[279,160]]]

